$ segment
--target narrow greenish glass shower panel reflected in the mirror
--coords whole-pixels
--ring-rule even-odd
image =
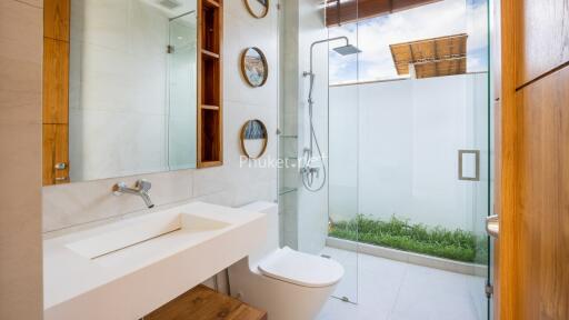
[[[168,46],[168,162],[171,170],[196,168],[196,13],[170,20]]]

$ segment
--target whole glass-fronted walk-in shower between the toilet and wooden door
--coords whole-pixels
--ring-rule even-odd
[[[360,307],[370,303],[397,309],[389,304],[400,288],[392,278],[411,268],[422,272],[413,284],[430,292],[421,301],[438,304],[430,311],[451,303],[437,297],[448,278],[468,309],[460,319],[490,319],[488,1],[441,0],[328,27],[327,7],[281,6],[279,157],[298,164],[279,170],[281,244],[343,266],[329,301],[335,311],[325,307],[322,319],[367,314]],[[338,37],[361,52],[339,54],[333,49],[346,42],[330,41],[309,61],[311,43]],[[313,79],[302,77],[310,62]],[[309,92],[327,172],[317,192],[302,186]],[[345,302],[347,313],[338,313]]]

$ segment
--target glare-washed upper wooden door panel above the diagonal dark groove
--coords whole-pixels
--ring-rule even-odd
[[[569,61],[569,0],[519,0],[517,87]]]

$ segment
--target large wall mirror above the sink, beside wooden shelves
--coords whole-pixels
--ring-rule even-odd
[[[71,182],[196,168],[196,0],[71,0]]]

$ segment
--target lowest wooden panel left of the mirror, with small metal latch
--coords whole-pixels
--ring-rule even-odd
[[[57,163],[69,163],[67,124],[43,124],[43,186],[67,183],[69,166],[56,170]]]

